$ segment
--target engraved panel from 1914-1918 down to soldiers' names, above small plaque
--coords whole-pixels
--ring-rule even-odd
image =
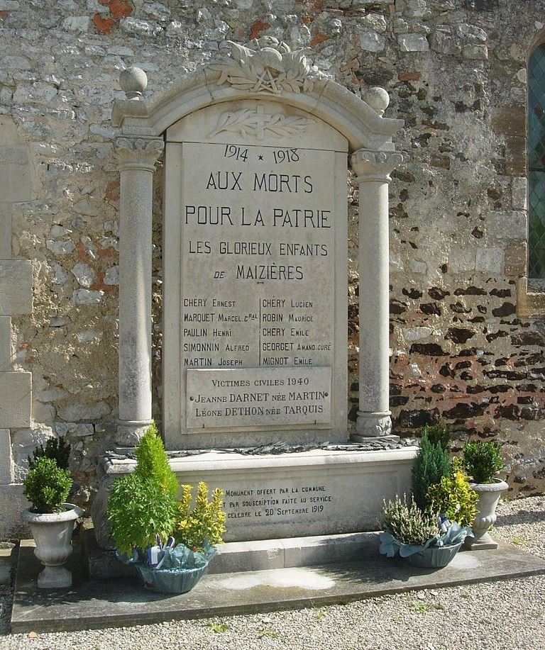
[[[183,145],[183,369],[332,366],[333,155]]]

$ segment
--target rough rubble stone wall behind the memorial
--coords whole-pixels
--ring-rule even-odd
[[[224,40],[272,35],[308,47],[364,99],[384,86],[386,116],[405,121],[397,147],[410,159],[390,194],[396,428],[443,419],[459,439],[498,437],[514,491],[542,491],[545,323],[517,316],[516,282],[526,260],[526,61],[544,37],[544,9],[544,0],[0,0],[0,383],[9,385],[0,483],[19,483],[35,444],[66,434],[84,501],[111,447],[119,73],[143,68],[151,97],[218,57]],[[160,170],[155,178],[160,418]],[[350,201],[355,349],[357,193]],[[350,369],[354,414],[356,354]],[[12,398],[14,382],[24,386]]]

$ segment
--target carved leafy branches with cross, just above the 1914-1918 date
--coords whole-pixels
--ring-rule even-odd
[[[241,108],[240,111],[222,113],[216,128],[208,137],[213,138],[218,133],[228,131],[254,138],[263,135],[269,138],[286,138],[304,133],[312,122],[313,120],[307,118],[285,116],[283,113],[259,115],[250,108]]]

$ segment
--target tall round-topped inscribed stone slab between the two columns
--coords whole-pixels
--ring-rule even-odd
[[[229,446],[265,442],[271,430],[297,442],[323,439],[324,429],[346,439],[346,146],[315,116],[268,100],[211,106],[168,130],[169,447],[181,442],[176,432],[195,446],[205,433],[207,444]],[[248,376],[251,391],[240,392],[270,402],[237,411],[247,407],[230,403],[233,391],[211,384],[220,370]],[[272,403],[273,391],[253,384],[265,377],[279,386],[306,378],[308,394],[290,399],[285,384]],[[327,396],[318,403],[313,392]]]

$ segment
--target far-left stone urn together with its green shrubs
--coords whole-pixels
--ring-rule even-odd
[[[24,494],[31,508],[22,514],[34,537],[35,556],[45,565],[38,576],[38,587],[53,589],[72,585],[72,573],[64,566],[72,553],[72,531],[83,510],[66,503],[72,478],[67,467],[70,446],[64,441],[48,443],[45,450],[38,447],[31,469],[23,481]],[[59,453],[60,449],[60,453]]]

